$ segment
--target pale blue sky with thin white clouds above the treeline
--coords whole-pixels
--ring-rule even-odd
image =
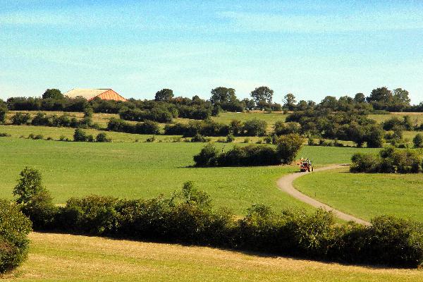
[[[402,87],[423,101],[423,1],[0,0],[0,99],[170,88],[281,103]]]

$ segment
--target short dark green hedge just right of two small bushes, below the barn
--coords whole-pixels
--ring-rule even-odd
[[[128,123],[118,118],[110,118],[107,123],[107,130],[117,131],[123,133],[137,133],[137,134],[159,134],[159,123],[154,121],[144,121],[143,123]]]

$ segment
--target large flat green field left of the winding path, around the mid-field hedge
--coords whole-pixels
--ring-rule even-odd
[[[276,209],[307,207],[283,194],[276,179],[296,166],[192,168],[204,143],[89,143],[0,138],[0,197],[11,198],[18,173],[38,168],[54,202],[89,194],[138,198],[169,195],[188,180],[209,192],[217,206],[244,214],[253,203]],[[230,148],[233,145],[216,144]],[[369,149],[308,147],[298,157],[314,164],[346,163],[353,152]],[[308,207],[307,207],[308,208]]]

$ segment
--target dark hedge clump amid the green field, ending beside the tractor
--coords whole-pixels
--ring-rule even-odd
[[[271,166],[289,164],[302,145],[300,135],[283,135],[276,140],[277,146],[247,145],[234,146],[226,152],[219,152],[212,144],[206,145],[194,156],[195,166]]]

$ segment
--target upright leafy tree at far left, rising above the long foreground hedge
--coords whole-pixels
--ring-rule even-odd
[[[34,195],[44,190],[41,173],[35,168],[26,166],[20,172],[20,178],[18,179],[18,184],[13,189],[13,195],[18,197],[16,199],[18,204],[27,204]]]

